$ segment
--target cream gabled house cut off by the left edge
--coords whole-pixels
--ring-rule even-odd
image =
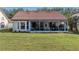
[[[4,11],[0,9],[0,30],[12,28],[10,19],[6,16]]]

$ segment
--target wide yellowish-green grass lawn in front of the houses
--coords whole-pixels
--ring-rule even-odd
[[[1,51],[79,50],[79,35],[69,33],[0,33]]]

